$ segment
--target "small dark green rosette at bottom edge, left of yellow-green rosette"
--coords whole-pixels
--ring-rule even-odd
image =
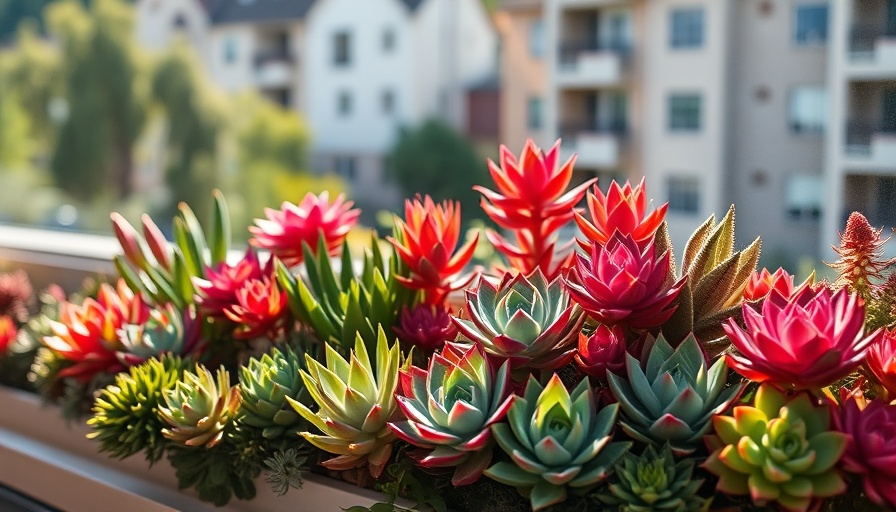
[[[640,457],[626,453],[615,475],[599,498],[620,512],[706,510],[706,499],[697,495],[703,480],[693,478],[694,459],[676,462],[668,445],[660,452],[650,445]]]

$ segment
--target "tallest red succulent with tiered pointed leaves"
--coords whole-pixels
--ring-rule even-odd
[[[488,239],[523,274],[535,269],[553,279],[567,266],[571,243],[557,246],[557,230],[573,218],[575,205],[596,180],[566,191],[572,179],[575,157],[562,166],[560,141],[542,152],[532,140],[526,141],[519,160],[501,146],[500,167],[489,160],[488,169],[497,192],[473,187],[482,194],[482,209],[499,226],[514,233],[515,242],[488,231]]]

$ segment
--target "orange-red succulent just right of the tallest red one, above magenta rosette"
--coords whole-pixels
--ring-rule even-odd
[[[590,252],[593,243],[605,245],[616,231],[631,235],[642,247],[653,240],[666,217],[669,203],[648,214],[647,187],[644,183],[645,179],[641,178],[641,183],[632,188],[628,181],[621,187],[614,181],[610,184],[607,195],[596,186],[593,192],[588,192],[588,212],[591,219],[581,213],[575,214],[576,224],[585,236],[584,240],[579,240],[583,249]]]

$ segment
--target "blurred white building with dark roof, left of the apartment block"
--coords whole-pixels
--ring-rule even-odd
[[[185,36],[222,88],[301,112],[312,168],[343,176],[368,208],[400,199],[385,157],[401,127],[488,128],[468,105],[488,104],[469,91],[496,70],[481,0],[138,0],[137,24],[150,47]]]

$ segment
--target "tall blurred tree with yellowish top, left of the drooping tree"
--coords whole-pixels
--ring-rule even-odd
[[[56,183],[79,199],[110,185],[126,198],[147,110],[133,10],[122,0],[93,0],[89,11],[62,0],[47,8],[46,21],[62,42],[67,99],[51,162]]]

